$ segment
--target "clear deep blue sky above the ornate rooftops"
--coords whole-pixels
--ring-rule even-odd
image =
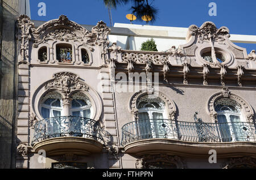
[[[46,3],[46,16],[38,15],[39,2]],[[216,3],[217,16],[209,16],[210,2]],[[152,25],[187,28],[191,24],[200,27],[205,21],[211,21],[217,28],[228,27],[231,34],[256,35],[255,0],[155,0],[153,4],[158,8],[159,14]],[[125,18],[126,14],[131,13],[130,7],[127,4],[112,10],[113,23],[130,23]],[[103,0],[30,0],[30,10],[33,20],[48,21],[64,14],[79,24],[96,25],[103,20],[110,25]],[[246,48],[247,53],[256,49],[256,44],[237,45]]]

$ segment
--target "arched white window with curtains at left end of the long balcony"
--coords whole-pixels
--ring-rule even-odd
[[[159,97],[144,95],[137,101],[139,135],[142,139],[165,138],[165,103]]]

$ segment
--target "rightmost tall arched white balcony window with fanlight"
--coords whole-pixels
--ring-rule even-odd
[[[230,98],[219,98],[214,103],[222,142],[245,141],[242,134],[243,117],[241,105]]]

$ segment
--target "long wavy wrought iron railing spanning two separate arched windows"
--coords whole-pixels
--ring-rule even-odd
[[[255,124],[247,122],[204,123],[170,119],[146,119],[122,127],[122,145],[155,138],[188,142],[256,142],[256,131]]]

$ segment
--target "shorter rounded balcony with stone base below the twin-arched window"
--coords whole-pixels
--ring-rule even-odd
[[[36,122],[33,128],[32,145],[35,152],[44,149],[47,155],[89,155],[101,152],[105,144],[105,131],[97,121],[89,118],[47,118]]]

